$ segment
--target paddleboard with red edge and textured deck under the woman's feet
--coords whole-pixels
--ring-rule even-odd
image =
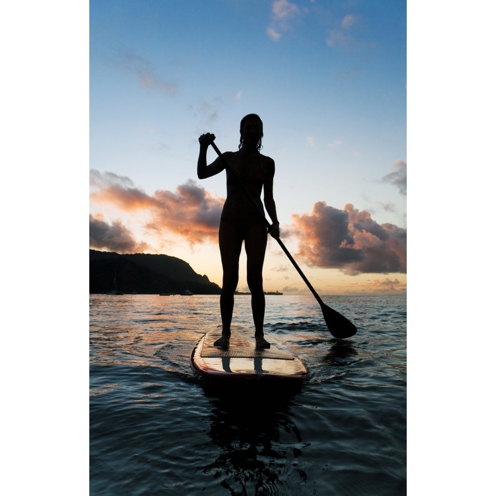
[[[302,381],[308,375],[305,364],[265,336],[270,348],[255,347],[255,331],[232,325],[229,347],[214,342],[221,337],[221,327],[208,331],[194,347],[189,364],[193,372],[218,379],[283,379]]]

